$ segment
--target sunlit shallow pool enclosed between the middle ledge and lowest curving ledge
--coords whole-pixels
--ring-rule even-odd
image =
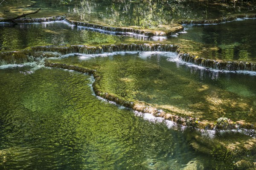
[[[210,121],[224,116],[256,122],[253,73],[188,66],[171,52],[73,54],[50,61],[98,70],[102,91],[128,101],[143,101],[178,115]]]

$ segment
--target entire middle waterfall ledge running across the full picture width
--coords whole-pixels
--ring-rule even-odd
[[[87,45],[48,45],[48,46],[36,46],[31,49],[3,52],[0,53],[0,64],[19,64],[23,62],[29,62],[33,57],[60,57],[61,55],[70,53],[82,53],[82,54],[102,54],[104,52],[115,51],[169,51],[177,52],[177,58],[184,61],[193,63],[204,68],[212,68],[216,70],[226,71],[256,71],[256,63],[242,62],[242,61],[216,61],[213,59],[205,59],[202,57],[186,54],[178,50],[179,46],[171,44],[117,44],[117,45],[99,45],[99,46],[87,46]]]

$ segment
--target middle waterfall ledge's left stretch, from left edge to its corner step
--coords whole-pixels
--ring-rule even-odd
[[[32,62],[36,58],[60,57],[70,53],[102,54],[115,51],[172,51],[177,50],[177,45],[170,44],[118,44],[118,45],[47,45],[35,46],[20,51],[9,51],[0,53],[0,65],[21,64]]]

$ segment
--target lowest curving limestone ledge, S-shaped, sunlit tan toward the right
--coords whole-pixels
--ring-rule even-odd
[[[168,113],[163,110],[151,107],[145,102],[129,102],[129,101],[125,101],[123,99],[119,99],[118,97],[116,97],[112,94],[108,94],[107,92],[101,91],[100,85],[99,85],[101,76],[97,73],[96,70],[90,70],[87,68],[82,68],[82,67],[78,67],[78,66],[74,66],[74,65],[52,63],[49,61],[45,62],[45,66],[75,70],[75,71],[79,71],[82,73],[92,74],[95,79],[95,82],[93,82],[93,90],[97,96],[100,96],[104,99],[108,99],[109,101],[112,101],[112,102],[116,102],[116,104],[125,106],[126,108],[131,108],[134,111],[139,111],[142,113],[151,113],[153,116],[163,117],[164,119],[171,120],[173,122],[176,122],[179,125],[191,126],[191,127],[197,127],[197,128],[209,129],[209,130],[240,129],[240,128],[255,129],[255,127],[253,125],[246,123],[246,122],[242,122],[242,121],[233,122],[233,121],[229,120],[227,122],[226,126],[219,126],[219,125],[215,125],[214,122],[209,122],[209,121],[201,122],[195,117],[177,116],[173,113]]]

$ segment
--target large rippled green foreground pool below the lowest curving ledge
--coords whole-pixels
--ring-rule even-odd
[[[194,130],[169,129],[97,99],[90,76],[31,67],[0,75],[1,169],[227,167],[195,152]]]

